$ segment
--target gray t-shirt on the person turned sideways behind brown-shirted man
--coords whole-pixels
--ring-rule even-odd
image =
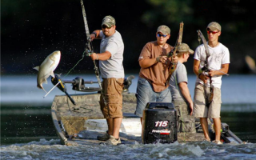
[[[170,92],[172,101],[186,101],[179,90],[178,83],[187,83],[186,67],[181,62],[178,62],[176,70],[170,77]]]

